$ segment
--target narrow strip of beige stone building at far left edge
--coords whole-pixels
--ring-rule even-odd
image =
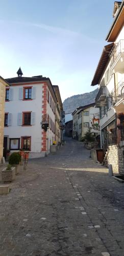
[[[6,86],[0,81],[0,163],[3,157]]]

